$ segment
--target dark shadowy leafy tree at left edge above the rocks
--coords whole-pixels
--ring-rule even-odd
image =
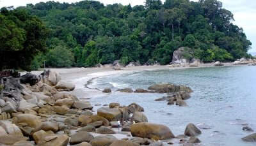
[[[0,12],[0,70],[31,70],[35,55],[45,52],[47,29],[28,11],[2,8]],[[33,66],[32,66],[33,67]]]

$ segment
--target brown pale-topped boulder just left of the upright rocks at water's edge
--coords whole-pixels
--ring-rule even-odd
[[[102,107],[97,110],[97,115],[108,119],[109,121],[121,120],[122,113],[117,108]]]

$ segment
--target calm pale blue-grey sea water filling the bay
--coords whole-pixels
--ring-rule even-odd
[[[189,68],[159,71],[141,71],[94,80],[91,87],[116,89],[148,86],[168,82],[187,85],[193,89],[188,107],[167,105],[166,101],[154,101],[164,94],[127,94],[113,92],[92,98],[91,102],[122,105],[138,103],[145,108],[149,122],[168,126],[174,135],[184,133],[186,125],[207,124],[211,129],[201,129],[199,136],[204,145],[255,145],[241,140],[252,134],[243,131],[244,125],[256,130],[256,67]]]

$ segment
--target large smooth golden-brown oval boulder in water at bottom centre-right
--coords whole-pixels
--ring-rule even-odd
[[[175,138],[172,131],[168,127],[161,124],[152,124],[147,122],[132,124],[131,134],[132,136],[153,138],[154,140]]]

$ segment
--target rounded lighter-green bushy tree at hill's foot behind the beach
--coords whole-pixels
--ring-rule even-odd
[[[57,46],[46,54],[46,62],[49,67],[71,67],[74,55],[66,47]]]

